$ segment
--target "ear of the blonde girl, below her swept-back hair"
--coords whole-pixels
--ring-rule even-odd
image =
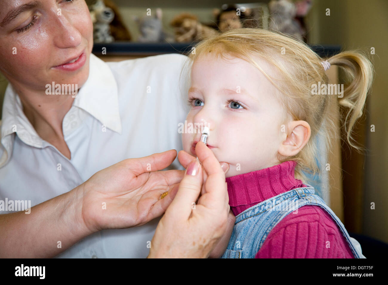
[[[280,145],[278,152],[282,156],[289,157],[298,154],[310,139],[310,125],[306,121],[292,121],[289,123],[291,133]]]

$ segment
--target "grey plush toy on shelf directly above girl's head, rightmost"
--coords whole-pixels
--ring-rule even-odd
[[[297,15],[301,17],[307,14],[311,7],[311,0],[299,2],[301,3],[298,4],[298,11],[296,4],[290,0],[271,0],[268,3],[268,9],[270,11],[269,28],[303,41],[305,30],[303,31],[300,22],[295,17]],[[297,14],[297,12],[300,14]]]

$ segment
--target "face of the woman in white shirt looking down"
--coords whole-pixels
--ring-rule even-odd
[[[81,87],[92,47],[84,0],[0,0],[0,71],[16,88]]]

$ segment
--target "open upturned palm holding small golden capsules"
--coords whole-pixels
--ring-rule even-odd
[[[81,221],[91,233],[141,226],[161,216],[174,198],[183,170],[158,171],[169,166],[176,150],[125,159],[89,178],[81,190]],[[168,191],[164,199],[162,193]]]

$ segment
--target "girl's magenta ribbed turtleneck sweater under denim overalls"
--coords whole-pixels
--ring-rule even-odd
[[[256,204],[298,187],[295,161],[226,178],[229,205],[235,216]],[[330,248],[325,245],[330,241]],[[269,233],[256,258],[353,258],[336,222],[319,206],[302,206]]]

